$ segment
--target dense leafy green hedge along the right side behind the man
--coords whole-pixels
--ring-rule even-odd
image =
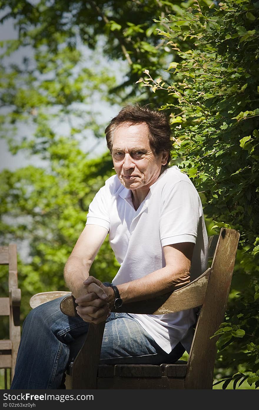
[[[229,310],[213,336],[218,337],[216,369],[230,369],[216,383],[223,389],[230,383],[243,387],[248,380],[259,387],[258,18],[259,8],[249,1],[227,0],[214,9],[201,7],[201,14],[192,6],[180,18],[161,19],[159,33],[172,50],[162,105],[170,110],[172,163],[203,195],[210,229],[241,233]],[[185,47],[182,39],[192,43]],[[154,87],[149,73],[145,85]]]

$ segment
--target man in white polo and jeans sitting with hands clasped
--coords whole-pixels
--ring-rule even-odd
[[[12,389],[60,388],[70,345],[89,323],[106,320],[104,364],[172,363],[190,349],[194,309],[146,315],[116,313],[116,307],[178,289],[205,271],[207,233],[198,192],[187,175],[168,167],[170,128],[162,112],[126,106],[105,132],[116,175],[90,204],[64,269],[79,317],[61,313],[60,298],[30,312]],[[108,233],[121,266],[112,284],[103,284],[89,269]]]

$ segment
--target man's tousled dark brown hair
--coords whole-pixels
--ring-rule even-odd
[[[159,155],[162,151],[168,151],[167,165],[169,164],[172,149],[171,130],[169,120],[163,112],[155,111],[147,106],[141,107],[138,104],[123,107],[105,129],[107,146],[111,154],[114,132],[123,123],[131,125],[146,123],[149,129],[149,144],[153,153]]]

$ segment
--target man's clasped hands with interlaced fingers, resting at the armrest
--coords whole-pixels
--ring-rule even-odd
[[[89,276],[83,285],[81,295],[75,300],[77,313],[85,322],[98,324],[105,321],[113,304],[113,289],[93,276]]]

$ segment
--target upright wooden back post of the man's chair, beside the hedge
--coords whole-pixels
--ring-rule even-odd
[[[212,388],[217,351],[216,340],[218,338],[210,339],[210,337],[224,321],[239,236],[239,232],[234,229],[222,228],[215,252],[213,248],[209,252],[209,255],[214,253],[214,257],[210,268],[205,298],[189,353],[185,379],[186,389],[189,386],[192,389]],[[209,245],[212,244],[213,238]]]

